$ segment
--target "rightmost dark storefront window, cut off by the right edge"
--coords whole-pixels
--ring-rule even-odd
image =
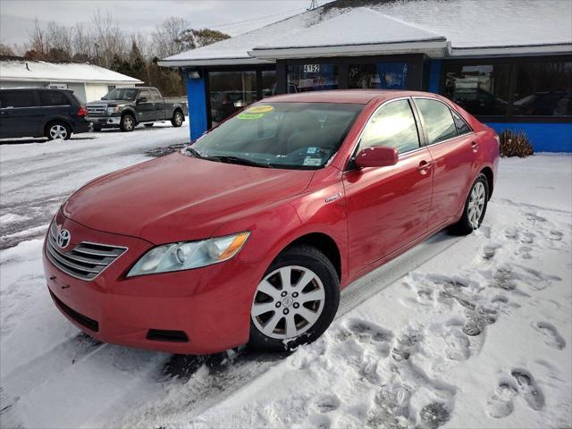
[[[572,116],[572,63],[517,65],[513,114]]]

